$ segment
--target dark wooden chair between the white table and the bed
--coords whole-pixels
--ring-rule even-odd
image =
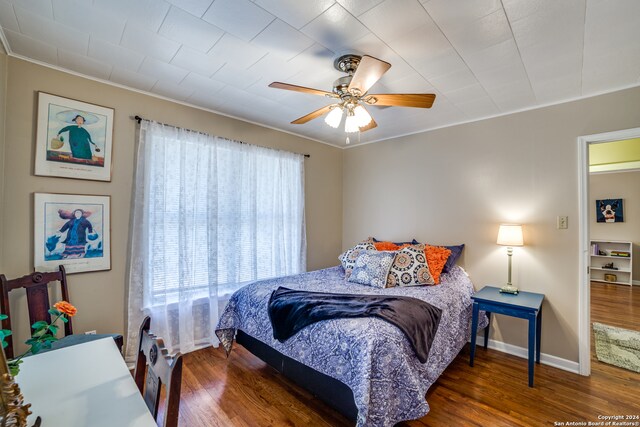
[[[140,326],[140,343],[133,375],[140,393],[154,419],[158,419],[160,388],[166,388],[164,427],[177,427],[182,385],[182,355],[169,356],[162,338],[149,333],[151,318],[145,317]],[[145,375],[146,373],[146,375]],[[146,377],[146,380],[145,380]]]

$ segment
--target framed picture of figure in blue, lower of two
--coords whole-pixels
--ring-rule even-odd
[[[35,269],[110,270],[110,202],[109,196],[35,193]]]

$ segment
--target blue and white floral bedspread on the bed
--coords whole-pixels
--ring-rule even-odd
[[[427,363],[420,363],[409,340],[377,318],[332,319],[314,323],[285,341],[273,338],[267,314],[279,286],[316,292],[405,295],[440,308],[442,318]],[[348,385],[358,408],[357,426],[393,426],[429,412],[425,395],[471,336],[471,280],[455,267],[437,286],[380,289],[347,282],[342,267],[263,280],[236,291],[223,311],[216,335],[227,354],[237,329],[311,368]],[[479,327],[486,325],[482,317]]]

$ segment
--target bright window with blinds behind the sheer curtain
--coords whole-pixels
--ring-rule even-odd
[[[217,285],[220,295],[301,272],[303,163],[231,143],[216,149],[217,158],[193,153],[193,163],[176,164],[184,149],[175,141],[151,154],[149,303],[175,300],[181,288],[208,295]],[[215,164],[203,165],[207,158]]]

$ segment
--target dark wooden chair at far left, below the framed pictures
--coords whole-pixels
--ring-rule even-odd
[[[0,274],[0,288],[2,291],[2,297],[0,298],[0,312],[9,316],[2,321],[3,329],[11,329],[11,310],[9,307],[9,292],[24,288],[27,292],[27,306],[29,311],[29,324],[33,325],[35,322],[44,320],[46,322],[51,321],[51,315],[49,309],[51,308],[49,302],[49,283],[58,281],[62,289],[62,299],[69,301],[69,290],[67,288],[67,275],[64,270],[64,266],[60,266],[58,271],[39,273],[35,272],[27,274],[18,279],[7,280],[4,274]],[[105,337],[111,337],[115,340],[116,345],[122,352],[122,335],[119,334],[96,334],[85,335],[73,334],[73,322],[71,319],[64,324],[64,338],[53,343],[50,350],[58,348],[69,347],[71,345],[82,344],[89,341],[102,339]],[[8,358],[14,357],[13,348],[13,335],[9,335],[5,338],[8,346],[5,348],[5,353]],[[43,349],[41,352],[48,351],[49,349]]]

